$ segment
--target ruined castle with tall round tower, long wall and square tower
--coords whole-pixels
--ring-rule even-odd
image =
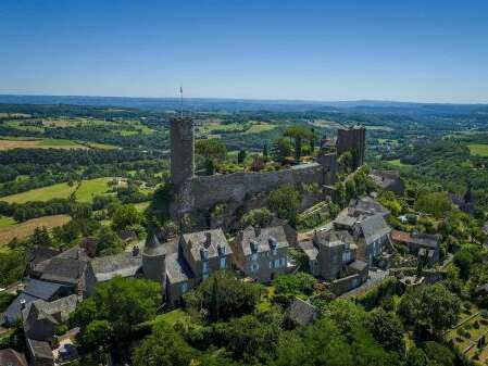
[[[175,218],[198,210],[210,210],[218,203],[233,202],[236,207],[249,195],[270,191],[285,184],[318,184],[329,186],[337,179],[336,157],[351,151],[356,166],[363,164],[365,149],[364,127],[340,129],[337,154],[321,151],[313,163],[300,164],[276,172],[239,172],[225,175],[195,176],[195,135],[190,117],[171,122],[171,181],[174,202],[171,214]],[[218,187],[218,189],[215,189]]]

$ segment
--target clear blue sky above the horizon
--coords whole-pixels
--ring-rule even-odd
[[[488,103],[488,1],[1,0],[0,93]]]

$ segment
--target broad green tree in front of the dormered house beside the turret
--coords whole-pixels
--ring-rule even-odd
[[[261,286],[242,282],[234,274],[218,270],[185,295],[189,308],[209,312],[211,320],[251,313],[261,296]]]

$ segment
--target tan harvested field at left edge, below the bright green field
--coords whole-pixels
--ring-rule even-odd
[[[33,218],[24,223],[0,226],[0,245],[9,243],[13,238],[26,238],[34,234],[36,227],[46,226],[51,229],[70,222],[68,215],[54,215]]]

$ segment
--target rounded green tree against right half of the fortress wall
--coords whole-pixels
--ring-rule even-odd
[[[285,185],[272,191],[267,198],[267,206],[279,217],[286,218],[290,224],[297,223],[300,195],[291,185]]]

